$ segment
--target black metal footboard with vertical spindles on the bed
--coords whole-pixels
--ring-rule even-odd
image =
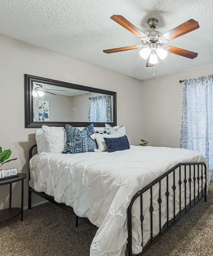
[[[189,167],[189,174],[187,172],[187,166]],[[184,168],[182,170],[181,177],[181,167]],[[173,183],[169,184],[169,175],[173,176]],[[177,176],[176,176],[177,175]],[[188,176],[188,177],[187,177]],[[162,203],[162,180],[164,180],[166,184],[166,212],[167,212],[167,220],[163,227],[161,227],[161,203]],[[178,186],[176,180],[178,179]],[[141,253],[137,254],[138,256],[142,255],[148,248],[150,248],[155,241],[157,241],[164,233],[167,232],[178,220],[180,220],[193,206],[195,206],[202,198],[204,201],[207,201],[207,167],[204,162],[200,163],[178,163],[172,169],[161,175],[152,183],[147,185],[144,189],[141,189],[134,195],[130,205],[127,209],[127,231],[128,231],[128,256],[132,256],[132,206],[137,198],[140,198],[140,221],[141,221],[141,236],[142,236],[142,246],[143,246],[143,223],[145,223],[146,219],[143,215],[143,195],[145,192],[150,191],[150,241],[143,246],[143,250]],[[182,182],[184,183],[184,209],[181,204],[181,187]],[[171,182],[170,182],[171,183]],[[187,184],[188,183],[188,184]],[[192,188],[193,183],[193,188]],[[153,186],[158,184],[159,192],[158,198],[153,198]],[[187,187],[188,186],[188,187]],[[196,188],[197,186],[197,188]],[[176,198],[176,189],[179,190],[178,198]],[[192,190],[193,189],[193,190]],[[197,189],[197,191],[196,191]],[[173,191],[170,195],[169,191]],[[193,192],[193,196],[192,196]],[[197,195],[196,195],[197,194]],[[173,218],[169,218],[169,197],[173,197]],[[189,204],[187,204],[187,198],[189,200]],[[179,210],[176,212],[176,199],[179,201]],[[153,200],[158,202],[158,218],[159,218],[159,233],[158,235],[153,235]]]

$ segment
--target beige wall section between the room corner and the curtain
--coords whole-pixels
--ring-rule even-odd
[[[154,146],[179,147],[184,83],[213,74],[213,66],[142,81],[143,138]]]

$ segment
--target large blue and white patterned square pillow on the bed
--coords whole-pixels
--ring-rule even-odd
[[[94,152],[97,149],[95,140],[90,135],[95,133],[94,124],[88,125],[80,131],[71,125],[65,125],[66,129],[66,151],[63,154],[76,154]]]

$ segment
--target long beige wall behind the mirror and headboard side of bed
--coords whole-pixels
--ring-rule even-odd
[[[27,173],[28,150],[35,143],[35,129],[24,128],[25,73],[116,91],[118,125],[126,125],[130,143],[138,144],[142,137],[141,81],[0,35],[0,145],[11,148],[12,157],[18,158],[6,168],[15,166]],[[0,187],[0,209],[8,206],[8,192],[8,185]],[[12,205],[20,206],[19,183],[13,186]]]

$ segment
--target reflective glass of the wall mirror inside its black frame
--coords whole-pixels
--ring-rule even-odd
[[[113,122],[111,95],[33,82],[35,122]]]

